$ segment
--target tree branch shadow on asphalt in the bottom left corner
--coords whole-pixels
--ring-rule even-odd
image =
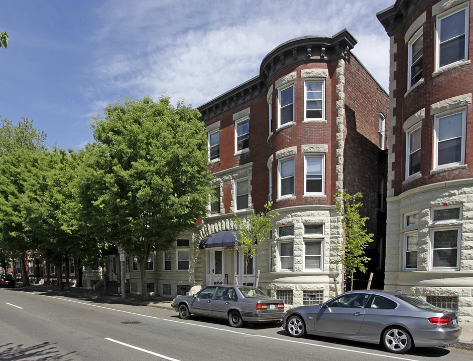
[[[72,361],[71,355],[75,352],[62,353],[56,343],[43,342],[34,346],[7,343],[0,345],[0,357],[2,361],[35,360],[35,361]]]

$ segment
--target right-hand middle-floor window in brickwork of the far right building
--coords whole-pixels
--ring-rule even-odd
[[[466,109],[435,117],[434,166],[464,163]]]

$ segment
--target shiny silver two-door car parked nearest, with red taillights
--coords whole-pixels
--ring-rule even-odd
[[[412,346],[448,346],[461,333],[455,311],[441,309],[398,291],[345,292],[313,306],[288,310],[283,328],[291,336],[305,334],[381,343],[390,352]]]

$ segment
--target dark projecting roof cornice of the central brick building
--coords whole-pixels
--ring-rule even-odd
[[[262,61],[260,75],[197,107],[200,120],[208,121],[234,108],[268,95],[268,82],[284,69],[308,63],[332,63],[348,59],[357,40],[344,29],[334,36],[305,36],[289,40]]]

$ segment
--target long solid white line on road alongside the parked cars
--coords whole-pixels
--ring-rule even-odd
[[[56,296],[48,296],[48,295],[41,295],[41,296],[56,298],[56,299],[58,299],[58,300],[68,301],[68,302],[73,302],[73,303],[80,303],[80,304],[83,304],[83,305],[86,305],[86,306],[98,307],[98,308],[103,308],[103,309],[107,309],[107,310],[111,310],[111,311],[116,311],[116,312],[123,312],[123,313],[133,314],[133,315],[136,315],[136,316],[154,318],[154,319],[161,320],[161,321],[168,321],[168,322],[181,323],[181,324],[184,324],[184,325],[187,325],[187,326],[196,326],[196,327],[201,327],[201,328],[210,328],[210,329],[214,329],[214,330],[218,330],[218,331],[225,331],[225,332],[229,332],[229,333],[237,333],[237,334],[240,334],[240,335],[242,335],[242,336],[253,336],[253,337],[268,338],[268,339],[272,339],[272,340],[276,340],[276,341],[286,341],[286,342],[292,342],[292,343],[299,343],[299,344],[304,344],[304,345],[308,345],[308,346],[321,347],[321,348],[329,348],[329,349],[335,349],[335,350],[338,350],[338,351],[347,351],[347,352],[353,352],[353,353],[361,353],[361,354],[366,354],[366,355],[370,355],[370,356],[380,356],[380,357],[383,357],[383,358],[399,359],[399,360],[403,360],[403,361],[418,361],[418,360],[416,360],[416,359],[414,359],[414,358],[406,358],[406,357],[395,356],[395,354],[386,354],[386,355],[383,355],[383,354],[374,353],[374,352],[350,350],[350,349],[347,349],[347,348],[334,347],[334,346],[326,346],[326,345],[321,345],[321,344],[316,344],[316,343],[297,341],[297,340],[294,340],[294,339],[285,339],[285,338],[278,338],[278,337],[272,337],[272,336],[263,336],[263,335],[253,335],[253,334],[248,334],[248,333],[245,333],[245,332],[233,331],[233,330],[224,329],[224,328],[218,328],[218,327],[212,327],[212,326],[205,326],[205,325],[201,325],[201,324],[189,323],[189,322],[184,322],[184,321],[179,321],[179,320],[173,320],[173,319],[167,319],[167,318],[161,318],[161,317],[148,316],[148,315],[141,314],[141,313],[135,313],[135,312],[129,312],[129,311],[122,311],[122,310],[117,310],[117,309],[115,309],[115,308],[110,308],[110,307],[105,307],[105,306],[99,306],[99,305],[94,305],[94,304],[85,303],[85,302],[74,301],[74,300],[70,300],[70,299],[66,299],[66,298],[59,298],[59,297],[56,297]]]

